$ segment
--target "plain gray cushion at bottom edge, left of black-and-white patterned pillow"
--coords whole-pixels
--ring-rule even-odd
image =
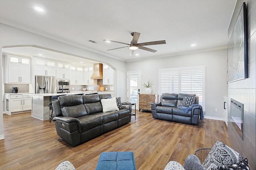
[[[198,159],[198,157],[196,157],[196,155],[194,154],[188,155],[184,162],[183,167],[185,170],[206,170],[206,168],[204,168],[204,166],[201,165],[201,162]]]

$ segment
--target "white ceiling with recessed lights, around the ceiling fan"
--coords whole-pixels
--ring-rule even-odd
[[[0,0],[0,22],[122,61],[136,61],[224,48],[235,4],[236,0]],[[35,6],[44,12],[34,10]],[[134,31],[141,33],[138,43],[166,40],[166,44],[145,46],[157,52],[138,49],[133,56],[128,48],[107,51],[126,45],[103,39],[130,43]],[[2,51],[37,56],[42,53],[37,50]],[[72,59],[73,63],[80,61]]]

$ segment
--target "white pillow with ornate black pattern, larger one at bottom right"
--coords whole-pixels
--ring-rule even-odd
[[[216,170],[220,165],[230,165],[243,159],[243,156],[224,143],[217,141],[204,160],[203,166],[208,170]]]

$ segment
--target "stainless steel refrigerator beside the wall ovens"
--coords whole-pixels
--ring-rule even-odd
[[[54,76],[36,76],[35,93],[57,93],[57,80]]]

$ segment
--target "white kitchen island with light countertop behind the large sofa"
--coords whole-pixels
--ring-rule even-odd
[[[40,120],[49,120],[50,113],[52,112],[52,107],[48,106],[49,102],[52,100],[52,96],[62,96],[62,95],[77,95],[77,94],[113,94],[113,92],[95,92],[95,91],[80,91],[80,92],[69,92],[69,93],[40,93],[40,94],[28,94],[32,96],[32,107],[31,107],[31,117]]]

